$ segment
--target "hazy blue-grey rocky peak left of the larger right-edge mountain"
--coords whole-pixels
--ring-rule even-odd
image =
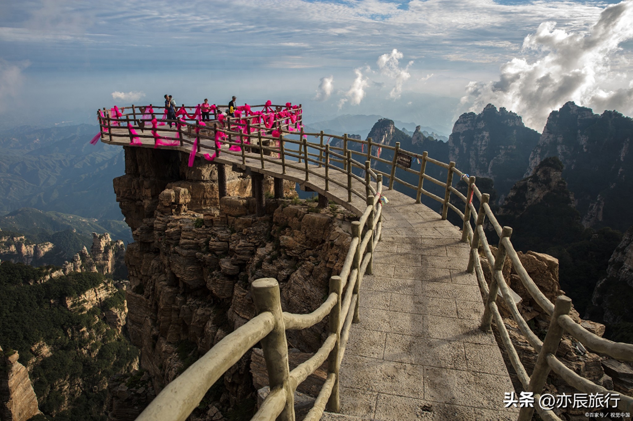
[[[464,113],[455,122],[448,138],[449,160],[465,174],[493,179],[503,201],[523,178],[538,141],[539,133],[525,127],[520,116],[488,104],[479,114]]]

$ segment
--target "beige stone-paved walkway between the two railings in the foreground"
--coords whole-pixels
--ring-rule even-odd
[[[374,274],[361,285],[341,365],[341,413],[363,419],[516,420],[510,377],[465,271],[461,233],[424,205],[385,191]],[[322,420],[350,417],[325,414]],[[353,418],[352,418],[353,419]]]

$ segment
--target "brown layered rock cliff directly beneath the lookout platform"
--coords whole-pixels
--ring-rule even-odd
[[[130,274],[126,327],[132,343],[141,348],[141,368],[156,392],[255,316],[249,293],[253,280],[276,278],[284,311],[310,312],[322,303],[329,277],[341,269],[349,247],[349,220],[342,220],[348,214],[319,212],[315,203],[307,206],[298,199],[296,205],[267,199],[266,216],[257,217],[254,199],[236,194],[248,191],[249,179],[234,179],[234,196],[211,206],[213,198],[203,201],[203,196],[180,186],[213,192],[215,187],[205,184],[214,182],[200,177],[216,174],[214,164],[196,162],[181,172],[177,151],[130,150],[127,174],[115,180],[135,239],[125,256]],[[166,166],[162,172],[156,171],[160,165]],[[181,176],[194,179],[179,180]],[[155,189],[154,182],[165,187],[163,191]],[[265,184],[271,186],[272,180]],[[314,351],[325,338],[325,326],[323,321],[289,332],[289,344]],[[249,359],[247,353],[227,371],[218,396],[206,396],[209,408],[200,411],[216,416],[215,411],[227,413],[253,399]],[[123,409],[125,399],[116,403],[118,411],[131,411]],[[204,419],[203,412],[194,416]]]

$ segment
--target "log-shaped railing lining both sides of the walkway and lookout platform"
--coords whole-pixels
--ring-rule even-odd
[[[245,116],[237,119],[220,117],[219,120],[215,119],[206,122],[205,126],[201,126],[201,123],[197,120],[195,122],[186,122],[186,119],[180,119],[179,121],[155,119],[153,115],[147,116],[147,107],[134,105],[127,107],[127,109],[131,110],[127,114],[123,114],[126,108],[121,108],[120,111],[117,110],[118,112],[110,112],[105,109],[97,112],[101,126],[101,141],[105,143],[127,145],[129,140],[130,145],[172,148],[190,152],[197,157],[204,157],[205,151],[211,151],[215,152],[214,158],[218,160],[217,163],[232,163],[234,167],[240,167],[242,170],[249,169],[251,174],[257,174],[258,176],[264,170],[268,173],[272,171],[277,179],[292,179],[292,177],[287,175],[287,169],[292,169],[294,172],[299,171],[303,173],[302,177],[304,177],[305,182],[310,180],[310,176],[320,178],[325,182],[325,188],[320,189],[319,194],[327,196],[343,206],[347,205],[348,208],[353,208],[360,216],[358,221],[352,223],[353,239],[341,273],[330,278],[330,294],[318,309],[310,314],[289,314],[283,312],[277,281],[273,278],[261,278],[254,281],[251,284],[251,294],[253,295],[253,302],[258,315],[223,338],[179,377],[170,382],[147,406],[137,420],[185,420],[192,410],[199,405],[204,394],[213,383],[229,367],[234,365],[244,353],[248,352],[251,347],[259,342],[261,342],[266,360],[270,393],[254,417],[251,418],[252,420],[277,419],[294,421],[294,391],[298,384],[310,376],[325,360],[328,362],[327,380],[316,398],[315,405],[304,419],[310,421],[319,420],[326,409],[329,412],[339,412],[339,366],[344,357],[351,324],[360,320],[358,293],[363,275],[372,273],[373,251],[380,240],[383,177],[387,177],[389,180],[389,190],[394,188],[394,182],[413,189],[416,203],[421,203],[422,194],[441,203],[442,219],[447,218],[448,210],[451,209],[463,220],[461,240],[470,243],[471,247],[467,271],[469,273],[475,271],[480,292],[485,301],[484,315],[480,328],[484,331],[490,331],[491,323],[494,319],[511,364],[522,383],[523,390],[533,392],[535,401],[538,402],[549,372],[554,371],[570,386],[581,392],[610,393],[605,388],[579,376],[556,358],[556,348],[558,348],[563,331],[567,331],[586,348],[610,355],[618,360],[633,361],[633,345],[614,343],[594,335],[594,333],[587,331],[587,329],[573,321],[568,315],[571,307],[571,300],[568,297],[561,295],[556,298],[555,303],[552,303],[542,294],[536,283],[523,268],[518,254],[511,243],[512,228],[499,225],[488,205],[489,195],[479,191],[475,184],[475,177],[468,177],[467,174],[456,169],[454,162],[444,163],[434,160],[428,156],[427,152],[420,155],[403,150],[399,147],[399,143],[396,143],[395,146],[389,146],[374,143],[371,138],[364,141],[349,138],[347,134],[335,136],[324,134],[323,131],[320,133],[304,133],[303,125],[301,125],[301,106],[293,109],[288,104],[285,106],[267,104],[251,106],[250,110],[252,111],[252,109],[257,107],[261,107],[263,110],[261,114],[268,113],[267,119],[261,118],[261,114],[259,114],[260,118],[257,118],[257,116]],[[275,110],[272,107],[275,107]],[[184,107],[184,105],[182,108],[194,109],[194,107]],[[215,114],[213,116],[214,118],[216,117]],[[151,117],[151,119],[147,117]],[[154,129],[156,129],[157,122],[172,122],[179,123],[179,125],[175,129],[161,126],[161,129],[155,130],[151,135],[137,133],[137,129],[142,129],[151,120],[154,120]],[[194,121],[194,119],[189,119],[189,121]],[[293,127],[298,128],[294,129]],[[161,134],[159,135],[158,132]],[[173,133],[177,137],[172,138]],[[272,135],[273,133],[275,134],[274,136]],[[285,136],[289,134],[299,134],[299,139],[286,138]],[[172,146],[160,146],[157,136],[173,141],[174,144]],[[306,136],[315,136],[320,138],[320,141],[318,143],[309,142]],[[342,147],[329,145],[329,141],[324,145],[324,137],[342,140]],[[146,142],[143,143],[141,139],[145,139]],[[362,145],[361,151],[349,148],[349,142]],[[363,151],[365,148],[366,152]],[[380,153],[377,151],[378,148],[393,150],[393,159],[385,160],[380,158]],[[372,154],[372,150],[376,150],[376,155]],[[225,155],[225,157],[222,158],[220,154]],[[361,160],[364,162],[353,159],[353,154],[360,155]],[[404,162],[407,160],[411,162],[412,159],[417,158],[417,160],[420,160],[420,170],[411,169],[410,165],[401,165],[399,157],[404,157]],[[248,165],[247,158],[249,158]],[[206,159],[210,160],[209,154],[206,154]],[[258,163],[254,165],[253,162]],[[389,166],[390,171],[383,172],[372,168],[372,162],[385,163]],[[427,163],[432,163],[448,170],[446,182],[439,181],[426,174]],[[220,166],[222,165],[218,165],[218,168]],[[354,174],[353,169],[362,170],[360,174],[362,175],[364,172],[365,177]],[[404,170],[417,175],[418,185],[414,186],[396,177],[396,170]],[[340,177],[338,177],[338,180],[331,177],[330,172],[332,171],[346,175],[347,182],[341,182]],[[453,186],[454,175],[457,175],[458,180],[463,179],[467,182],[468,193],[466,196]],[[444,198],[424,189],[423,182],[425,180],[441,186],[444,189]],[[332,194],[330,183],[342,187],[342,191],[346,192],[347,197],[341,198]],[[354,184],[356,187],[364,185],[365,191],[359,191],[358,188],[354,188]],[[261,185],[260,182],[258,186]],[[258,189],[255,188],[255,177],[253,186],[256,200],[258,203],[263,203],[263,187],[260,187],[261,191],[257,191]],[[219,190],[220,194],[222,194],[222,186],[220,186]],[[276,196],[278,196],[279,191],[282,191],[282,189],[278,189],[277,183],[275,183]],[[465,206],[463,211],[450,203],[451,193],[456,194],[463,201]],[[364,211],[358,206],[351,206],[353,196],[361,199],[366,204]],[[478,209],[475,208],[473,203],[473,196],[479,201]],[[260,210],[263,210],[263,205],[258,205],[258,213]],[[486,218],[500,239],[494,255],[484,232],[484,221]],[[492,281],[490,285],[484,278],[479,259],[479,247],[482,247],[492,266]],[[513,294],[503,276],[503,264],[506,256],[510,257],[510,261],[516,268],[523,286],[551,317],[551,324],[543,341],[529,328],[517,309]],[[523,336],[527,338],[530,345],[538,352],[532,376],[528,376],[510,340],[496,304],[496,300],[499,297],[503,299],[506,306],[510,309]],[[329,335],[323,342],[322,347],[313,357],[290,371],[285,330],[308,328],[320,322],[325,316],[329,316]],[[633,398],[620,396],[618,408],[625,412],[633,412]],[[543,409],[539,405],[534,405],[534,408],[521,408],[518,420],[530,420],[534,409],[537,410],[543,420],[560,420],[553,411]]]

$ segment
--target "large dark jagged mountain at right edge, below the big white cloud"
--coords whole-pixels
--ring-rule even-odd
[[[633,119],[617,111],[593,114],[567,102],[549,114],[539,142],[530,154],[530,174],[547,157],[560,158],[576,208],[586,227],[624,231],[633,225]]]

